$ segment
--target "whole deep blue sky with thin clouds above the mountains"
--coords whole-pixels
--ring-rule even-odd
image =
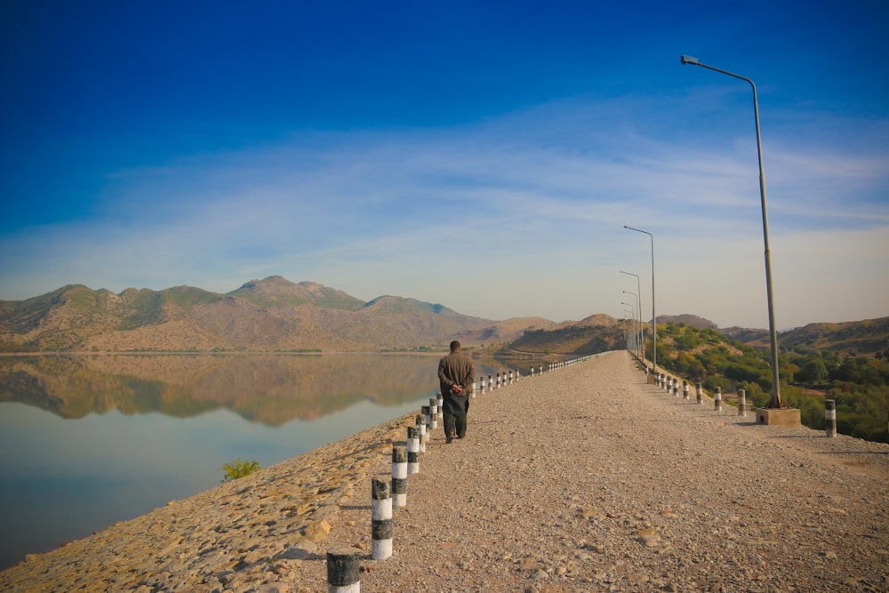
[[[478,317],[889,316],[889,4],[0,5],[0,300],[310,280]]]

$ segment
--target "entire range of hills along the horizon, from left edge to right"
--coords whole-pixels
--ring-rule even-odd
[[[769,341],[766,330],[721,330],[693,315],[658,317],[659,325],[668,323],[716,329],[751,345]],[[365,302],[282,276],[226,293],[174,286],[116,294],[69,284],[25,301],[0,301],[0,352],[437,350],[457,339],[511,355],[589,354],[623,348],[626,331],[626,320],[604,314],[559,324],[542,317],[497,321],[391,295]],[[782,347],[867,355],[886,350],[887,335],[889,317],[806,325],[780,340]]]

